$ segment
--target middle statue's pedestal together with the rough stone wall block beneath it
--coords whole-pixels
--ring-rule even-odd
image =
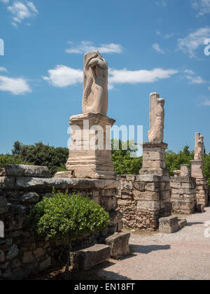
[[[118,209],[128,228],[158,230],[159,218],[172,214],[170,177],[165,169],[165,143],[143,144],[138,176],[119,176]]]

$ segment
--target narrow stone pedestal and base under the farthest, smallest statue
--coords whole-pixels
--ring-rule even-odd
[[[204,161],[191,160],[190,162],[192,166],[192,176],[196,179],[197,206],[201,204],[204,205],[204,207],[207,207],[209,184],[207,180],[204,178]]]

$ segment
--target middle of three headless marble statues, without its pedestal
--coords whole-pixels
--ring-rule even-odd
[[[159,98],[158,93],[151,93],[150,130],[148,139],[151,143],[162,143],[165,120],[165,99]]]

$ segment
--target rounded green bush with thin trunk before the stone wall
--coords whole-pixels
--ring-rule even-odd
[[[44,197],[31,209],[28,224],[38,237],[68,246],[68,273],[71,241],[104,230],[109,225],[109,214],[88,197],[53,190],[52,197]]]

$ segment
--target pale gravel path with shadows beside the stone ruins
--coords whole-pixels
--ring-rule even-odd
[[[172,235],[138,235],[132,232],[131,255],[110,260],[99,270],[105,279],[210,280],[210,207],[204,214],[187,217],[188,227]]]

